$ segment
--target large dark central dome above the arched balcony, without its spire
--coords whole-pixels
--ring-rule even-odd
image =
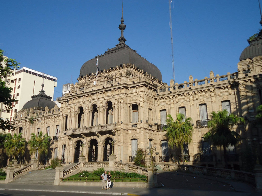
[[[89,73],[96,73],[96,61],[97,58],[95,57],[85,62],[80,69],[79,77]],[[135,67],[139,67],[139,69],[143,69],[153,77],[162,80],[160,70],[154,64],[141,57],[135,50],[129,48],[125,43],[116,45],[116,47],[109,49],[104,55],[98,57],[98,70],[107,70],[120,64],[134,64]]]

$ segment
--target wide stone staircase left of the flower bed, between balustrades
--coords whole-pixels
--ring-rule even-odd
[[[56,170],[34,170],[14,179],[9,184],[53,185]]]

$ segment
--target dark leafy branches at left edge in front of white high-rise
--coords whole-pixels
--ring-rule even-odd
[[[10,111],[12,109],[12,103],[18,100],[14,97],[12,98],[12,88],[6,86],[4,78],[7,78],[12,73],[12,69],[19,68],[19,64],[20,63],[17,63],[15,59],[4,57],[4,51],[0,49],[0,103],[3,103],[3,106],[7,111]],[[0,129],[12,130],[14,128],[15,127],[9,120],[4,121],[3,119],[0,119]]]

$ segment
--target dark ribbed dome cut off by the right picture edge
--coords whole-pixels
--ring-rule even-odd
[[[262,55],[262,36],[257,37],[252,41],[249,41],[249,46],[242,51],[239,60],[242,61],[248,58],[254,58],[261,55]]]

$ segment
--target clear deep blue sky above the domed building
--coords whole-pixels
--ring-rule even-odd
[[[76,83],[81,66],[118,44],[122,0],[1,0],[0,48],[5,56]],[[258,32],[257,0],[173,0],[175,80],[237,71],[247,39]],[[172,79],[168,0],[124,0],[125,43]],[[94,73],[96,67],[94,65]]]

